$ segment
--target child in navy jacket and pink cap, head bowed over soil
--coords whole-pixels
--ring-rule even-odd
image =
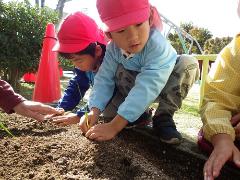
[[[81,12],[69,14],[60,25],[57,36],[58,42],[53,51],[69,59],[76,73],[69,81],[58,107],[72,111],[93,85],[94,76],[105,54],[106,40],[95,21]],[[76,114],[54,117],[53,122],[63,126],[78,123],[86,110],[87,107],[83,107]]]

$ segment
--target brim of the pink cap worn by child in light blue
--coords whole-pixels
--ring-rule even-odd
[[[103,30],[105,32],[117,31],[121,28],[138,24],[146,21],[150,16],[150,8],[146,7],[138,11],[124,14],[104,22]]]

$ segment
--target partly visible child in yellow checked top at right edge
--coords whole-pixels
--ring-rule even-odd
[[[238,3],[240,16],[240,1]],[[240,168],[240,33],[227,45],[212,66],[201,107],[203,121],[199,147],[211,153],[204,179],[217,177],[231,160]]]

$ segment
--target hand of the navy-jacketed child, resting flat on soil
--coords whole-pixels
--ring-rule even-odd
[[[56,116],[52,118],[52,122],[59,126],[77,124],[79,123],[79,121],[80,121],[80,118],[74,113],[68,113],[62,116]]]

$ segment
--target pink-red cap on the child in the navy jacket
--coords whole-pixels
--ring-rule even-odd
[[[57,37],[58,42],[52,50],[63,53],[82,51],[90,43],[106,44],[103,31],[92,18],[81,12],[69,14],[65,18]]]

